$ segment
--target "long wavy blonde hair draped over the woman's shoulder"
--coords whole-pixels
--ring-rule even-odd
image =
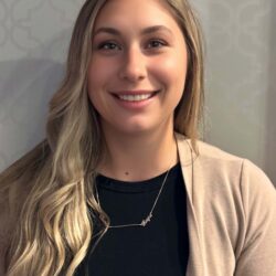
[[[66,75],[50,103],[46,139],[0,174],[0,206],[8,200],[9,215],[17,217],[10,221],[7,276],[72,276],[88,252],[96,220],[100,235],[109,224],[95,198],[104,139],[86,87],[92,30],[105,2],[87,0],[78,14]],[[203,96],[200,28],[187,0],[167,2],[189,56],[174,130],[195,141]]]

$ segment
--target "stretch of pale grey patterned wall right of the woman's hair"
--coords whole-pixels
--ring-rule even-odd
[[[276,183],[276,2],[194,2],[206,41],[205,139]]]

